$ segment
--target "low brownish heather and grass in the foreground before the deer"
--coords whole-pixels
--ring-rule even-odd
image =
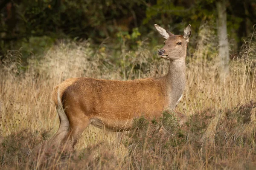
[[[148,122],[144,117],[134,121],[133,130],[123,140],[127,150],[125,156],[116,156],[114,150],[121,150],[117,143],[98,142],[84,149],[74,151],[47,148],[45,136],[49,139],[49,130],[32,133],[26,129],[11,133],[2,139],[0,145],[0,166],[3,169],[158,169],[158,168],[237,168],[255,166],[255,129],[253,122],[241,122],[239,115],[245,110],[255,114],[256,102],[250,101],[225,111],[198,112],[189,117],[184,125],[174,125],[172,130],[160,131],[163,122],[176,124],[171,114],[163,114],[159,122]],[[254,109],[254,112],[253,112]],[[237,114],[239,111],[239,114]],[[224,115],[217,123],[214,143],[202,136],[210,122],[218,115]],[[233,115],[230,119],[230,115]],[[251,117],[246,114],[247,119]],[[164,127],[168,129],[168,125]],[[89,134],[88,134],[89,135]],[[233,160],[233,163],[230,162]],[[201,163],[198,164],[198,161]]]

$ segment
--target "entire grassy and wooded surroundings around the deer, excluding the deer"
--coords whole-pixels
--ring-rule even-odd
[[[33,155],[58,130],[50,94],[65,79],[167,74],[155,23],[192,26],[176,108],[186,124],[135,123],[121,147],[89,126],[74,152]],[[255,0],[0,0],[0,169],[254,170],[255,24]]]

